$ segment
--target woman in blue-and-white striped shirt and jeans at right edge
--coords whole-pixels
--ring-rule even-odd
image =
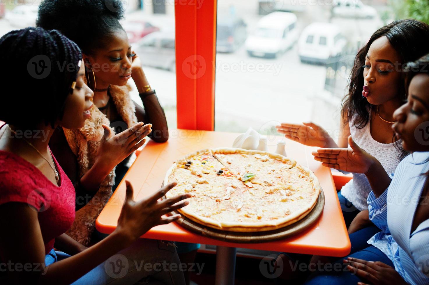
[[[408,101],[393,114],[392,129],[412,152],[388,175],[374,157],[351,149],[320,149],[323,165],[364,173],[371,183],[369,218],[381,232],[353,252],[341,270],[318,273],[306,284],[429,284],[429,55],[408,63]],[[337,261],[336,263],[341,263]],[[344,270],[345,269],[345,270]]]

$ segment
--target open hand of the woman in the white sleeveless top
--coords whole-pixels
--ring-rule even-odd
[[[310,147],[329,147],[336,145],[331,136],[315,123],[281,123],[276,126],[279,133],[290,140],[297,141]],[[333,144],[332,144],[333,143]]]

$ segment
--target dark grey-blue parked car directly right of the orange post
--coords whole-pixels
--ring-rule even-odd
[[[218,18],[216,33],[216,51],[234,52],[247,38],[247,25],[242,18]]]

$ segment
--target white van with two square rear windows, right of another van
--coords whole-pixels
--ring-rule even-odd
[[[308,63],[329,63],[344,53],[346,45],[347,40],[338,26],[315,22],[305,27],[299,37],[299,59]]]

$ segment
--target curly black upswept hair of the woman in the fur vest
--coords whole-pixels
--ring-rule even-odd
[[[106,46],[112,33],[124,30],[119,23],[122,18],[121,0],[43,0],[36,26],[59,30],[84,54],[92,55]]]

